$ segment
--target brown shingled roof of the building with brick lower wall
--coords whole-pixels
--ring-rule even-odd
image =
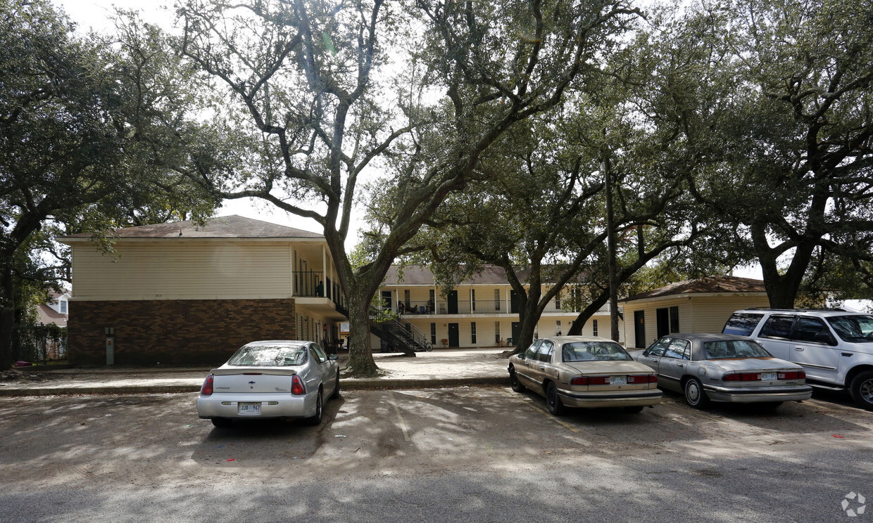
[[[297,228],[276,225],[267,221],[252,220],[242,216],[218,216],[210,218],[206,225],[194,221],[175,221],[115,229],[115,238],[324,238],[324,235]],[[90,239],[91,234],[71,234],[59,240]]]

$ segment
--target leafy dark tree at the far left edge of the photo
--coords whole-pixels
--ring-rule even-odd
[[[201,140],[167,50],[148,27],[79,37],[51,3],[0,2],[0,368],[14,357],[17,289],[66,277],[49,233],[212,212],[174,173]]]

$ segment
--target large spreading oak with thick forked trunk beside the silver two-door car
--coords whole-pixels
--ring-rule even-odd
[[[244,164],[199,180],[320,224],[347,298],[350,371],[372,375],[368,307],[395,257],[504,132],[560,103],[634,12],[615,0],[191,0],[179,46],[213,79],[215,121]],[[355,268],[345,244],[374,178],[387,205]]]

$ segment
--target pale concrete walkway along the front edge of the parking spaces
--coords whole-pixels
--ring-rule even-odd
[[[504,349],[435,350],[416,357],[375,354],[381,377],[343,378],[340,389],[410,389],[509,384]],[[348,361],[340,353],[340,368]],[[24,370],[24,378],[0,382],[0,396],[197,392],[210,367],[101,367]]]

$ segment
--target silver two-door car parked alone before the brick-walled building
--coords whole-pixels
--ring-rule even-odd
[[[340,394],[336,360],[313,342],[246,343],[210,370],[197,397],[197,415],[217,427],[253,418],[303,418],[319,425],[324,398]]]

